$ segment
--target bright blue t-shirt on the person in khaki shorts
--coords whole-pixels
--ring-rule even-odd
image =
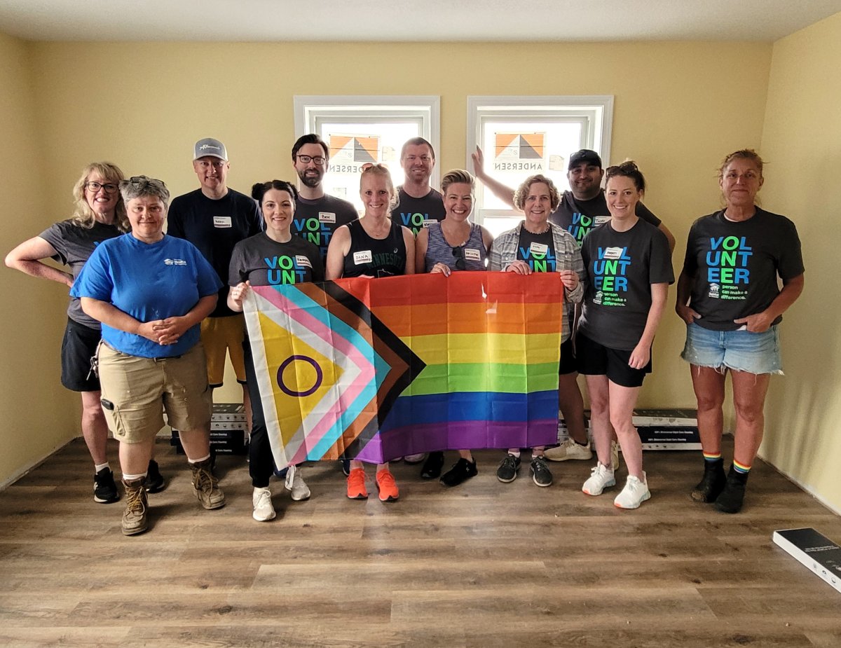
[[[93,250],[70,294],[110,303],[139,322],[151,322],[187,314],[200,298],[219,292],[221,285],[216,271],[189,241],[165,235],[157,243],[144,243],[123,234]],[[193,348],[198,336],[196,324],[174,345],[159,345],[103,324],[106,344],[144,358],[181,356]]]

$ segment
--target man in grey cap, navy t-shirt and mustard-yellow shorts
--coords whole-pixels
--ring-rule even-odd
[[[260,212],[250,197],[227,185],[228,152],[219,140],[205,138],[193,146],[193,171],[200,187],[172,200],[167,234],[186,239],[204,255],[220,277],[222,288],[216,308],[202,322],[201,339],[208,362],[211,388],[221,387],[225,377],[225,355],[242,385],[242,399],[251,428],[251,401],[246,388],[246,367],[242,357],[245,319],[228,308],[228,266],[234,245],[262,231]]]

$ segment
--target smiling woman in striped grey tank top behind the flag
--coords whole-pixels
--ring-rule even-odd
[[[415,271],[441,272],[449,277],[452,271],[484,271],[494,237],[481,225],[471,223],[474,181],[467,171],[454,169],[441,179],[445,216],[418,232],[415,239]],[[478,474],[470,450],[458,450],[459,460],[441,476],[444,486],[458,486]],[[430,452],[421,477],[435,479],[444,465],[443,452]]]

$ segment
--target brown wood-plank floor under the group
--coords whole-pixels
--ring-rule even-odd
[[[841,594],[771,542],[838,541],[841,519],[769,466],[724,515],[690,501],[698,453],[647,453],[637,511],[580,492],[589,461],[553,463],[551,488],[526,466],[497,482],[498,451],[453,489],[399,464],[390,504],[346,499],[328,462],[304,469],[308,502],[272,481],[261,524],[242,457],[220,457],[228,505],[205,511],[159,444],[144,535],[93,503],[82,440],[0,493],[0,646],[841,645]]]

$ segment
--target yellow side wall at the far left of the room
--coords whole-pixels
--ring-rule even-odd
[[[70,196],[48,192],[41,133],[34,119],[32,45],[0,34],[0,131],[3,133],[2,256],[67,213]],[[56,155],[67,159],[66,155]],[[75,159],[71,166],[79,166]],[[71,174],[73,171],[68,171]],[[75,178],[74,178],[75,180]],[[71,181],[72,182],[72,181]],[[76,434],[77,398],[61,387],[59,349],[66,287],[0,270],[0,486]]]

